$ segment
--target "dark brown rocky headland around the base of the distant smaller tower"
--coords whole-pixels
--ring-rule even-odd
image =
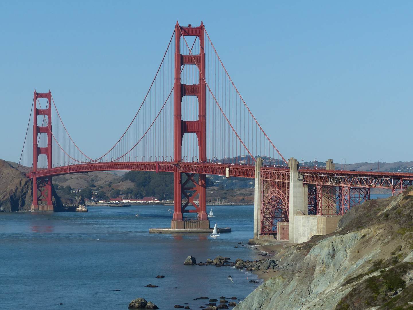
[[[0,160],[0,212],[28,211],[33,202],[33,182],[24,173]],[[55,211],[63,211],[62,201],[52,188]]]

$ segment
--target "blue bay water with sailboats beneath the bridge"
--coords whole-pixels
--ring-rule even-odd
[[[231,261],[262,259],[253,247],[238,244],[253,236],[253,206],[213,206],[211,227],[217,222],[232,228],[216,239],[209,234],[150,234],[150,228],[171,226],[169,208],[0,212],[0,308],[126,310],[132,299],[143,297],[161,309],[199,309],[208,300],[193,300],[197,297],[236,296],[238,302],[262,283],[240,269],[183,265],[188,255],[197,262],[218,255]],[[157,279],[161,274],[165,278]]]

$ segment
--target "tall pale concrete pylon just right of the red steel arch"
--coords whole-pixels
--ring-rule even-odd
[[[291,157],[288,160],[290,167],[290,212],[288,225],[288,240],[294,243],[294,215],[297,211],[303,215],[308,214],[308,186],[303,184],[303,176],[298,172],[298,161]]]

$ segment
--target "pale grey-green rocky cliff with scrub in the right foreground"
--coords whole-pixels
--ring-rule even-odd
[[[413,309],[412,212],[407,191],[353,207],[334,233],[278,251],[278,274],[234,309]]]

